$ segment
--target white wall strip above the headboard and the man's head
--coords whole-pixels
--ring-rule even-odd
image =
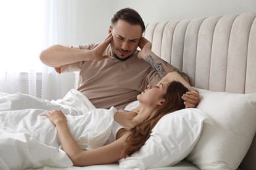
[[[131,7],[145,23],[256,11],[255,0],[115,0],[116,10]]]

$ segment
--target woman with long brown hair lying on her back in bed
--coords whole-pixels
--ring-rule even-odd
[[[169,73],[156,86],[148,85],[137,96],[139,107],[116,112],[114,120],[119,128],[114,133],[115,140],[92,150],[79,147],[61,110],[50,111],[47,116],[56,126],[62,148],[75,166],[113,163],[139,150],[162,116],[184,109],[181,97],[188,89],[191,90],[191,87],[178,73]]]

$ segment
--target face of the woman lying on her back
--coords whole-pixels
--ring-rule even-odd
[[[137,96],[141,105],[161,105],[164,101],[163,95],[167,92],[169,82],[161,82],[156,86],[148,84],[147,88]]]

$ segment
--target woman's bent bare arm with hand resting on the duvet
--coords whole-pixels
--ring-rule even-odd
[[[83,150],[70,133],[66,116],[64,116],[61,110],[50,111],[47,116],[56,126],[62,148],[70,160],[72,160],[74,166],[114,163],[121,158],[121,151],[128,133],[122,135],[114,143],[91,150]]]

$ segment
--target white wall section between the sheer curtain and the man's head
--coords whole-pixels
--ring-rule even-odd
[[[108,35],[113,0],[70,0],[70,45],[100,42]]]

